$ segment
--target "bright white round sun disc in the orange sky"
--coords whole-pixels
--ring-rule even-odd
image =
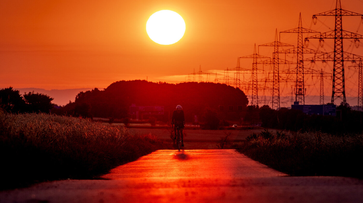
[[[185,22],[174,11],[160,10],[147,20],[146,32],[152,41],[160,45],[171,45],[183,37]]]

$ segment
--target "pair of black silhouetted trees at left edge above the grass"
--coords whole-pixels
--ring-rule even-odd
[[[53,108],[53,98],[46,94],[24,93],[12,87],[0,90],[0,109],[9,113],[49,113]]]

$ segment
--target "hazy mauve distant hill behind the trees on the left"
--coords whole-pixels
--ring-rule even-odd
[[[64,106],[69,101],[74,102],[76,100],[76,96],[79,92],[86,92],[88,90],[91,90],[92,88],[79,88],[79,89],[39,89],[39,88],[14,88],[20,91],[20,94],[24,94],[25,92],[33,92],[34,93],[42,93],[46,94],[54,100],[52,103],[55,103],[58,106]]]

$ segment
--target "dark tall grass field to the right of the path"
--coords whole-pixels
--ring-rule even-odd
[[[268,135],[266,135],[268,134]],[[333,136],[321,132],[287,136],[262,132],[236,146],[245,155],[290,175],[363,178],[363,135]]]

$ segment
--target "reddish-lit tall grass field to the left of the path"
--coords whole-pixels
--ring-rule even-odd
[[[88,179],[166,148],[150,135],[82,118],[0,112],[1,188],[54,179]]]

